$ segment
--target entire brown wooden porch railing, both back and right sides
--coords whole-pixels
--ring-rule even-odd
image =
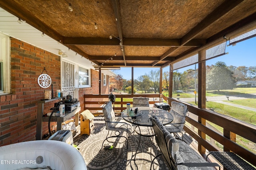
[[[120,98],[120,102],[115,102],[115,111],[120,112],[126,109],[123,105],[127,103],[132,104],[131,102],[124,102],[124,98],[133,98],[133,97],[148,97],[148,98],[159,98],[160,94],[115,94],[116,99]],[[168,101],[170,104],[172,101],[176,101],[174,98],[166,98],[162,96],[164,100]],[[105,102],[108,102],[108,94],[85,94],[84,95],[84,109],[89,109],[90,111],[100,111],[102,112],[102,106]],[[182,101],[178,101],[182,102]],[[150,104],[154,104],[155,101],[149,101]],[[244,160],[247,160],[252,165],[256,166],[256,154],[250,150],[241,147],[236,143],[236,135],[239,135],[245,139],[248,139],[253,145],[256,145],[256,126],[245,123],[238,119],[216,113],[209,109],[200,109],[196,106],[182,102],[188,107],[188,111],[198,116],[198,120],[194,120],[191,117],[186,117],[186,122],[190,123],[192,126],[198,129],[198,132],[194,131],[191,127],[187,125],[184,126],[184,130],[191,137],[193,137],[198,142],[198,151],[201,154],[205,154],[205,150],[209,151],[222,151],[218,149],[215,145],[212,145],[209,141],[206,140],[206,135],[214,139],[218,143],[224,146],[223,151],[232,151],[242,157]],[[220,127],[223,127],[223,135],[214,131],[210,127],[206,127],[206,120],[212,122]]]

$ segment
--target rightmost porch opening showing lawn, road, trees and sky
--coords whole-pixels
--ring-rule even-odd
[[[256,125],[255,44],[256,37],[242,41],[226,47],[228,55],[206,61],[206,108],[253,125]],[[236,143],[256,152],[251,141],[238,135]]]

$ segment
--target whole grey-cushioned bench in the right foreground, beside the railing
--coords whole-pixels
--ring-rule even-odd
[[[162,155],[170,170],[191,170],[200,167],[200,170],[216,170],[217,163],[207,162],[182,140],[175,139],[162,125],[157,117],[152,116],[152,125],[156,137],[156,144],[161,151],[155,158]],[[151,162],[150,169],[155,158]]]

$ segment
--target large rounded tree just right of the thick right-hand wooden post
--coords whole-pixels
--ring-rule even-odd
[[[206,90],[232,90],[236,88],[233,72],[224,62],[218,61],[206,75]]]

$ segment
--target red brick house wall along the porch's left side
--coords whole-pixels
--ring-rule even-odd
[[[44,89],[38,85],[40,74],[47,71],[52,79],[53,91],[60,89],[60,57],[10,39],[11,94],[0,96],[0,146],[36,139],[37,102],[44,99],[44,90],[51,90],[51,86]],[[80,102],[84,101],[84,94],[98,94],[98,72],[91,70],[91,74],[92,87],[79,88]],[[44,113],[50,112],[54,102],[44,105]],[[83,111],[83,103],[81,107]],[[54,125],[56,123],[52,122],[50,127]],[[43,127],[43,134],[48,133],[48,122],[44,122]]]

